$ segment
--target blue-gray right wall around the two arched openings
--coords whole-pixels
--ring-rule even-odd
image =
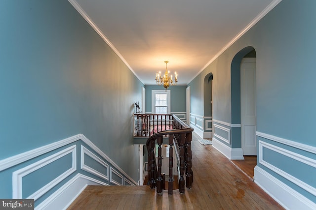
[[[240,138],[234,136],[237,125],[234,127],[233,124],[240,123],[240,118],[232,116],[232,110],[236,110],[236,107],[232,107],[234,95],[231,79],[236,78],[231,78],[231,67],[238,52],[251,46],[257,57],[257,144],[259,141],[267,142],[276,147],[277,151],[267,147],[263,147],[263,150],[259,148],[263,161],[259,161],[258,156],[257,165],[314,203],[315,194],[306,189],[316,187],[313,176],[316,168],[304,164],[304,161],[280,155],[280,152],[286,149],[291,151],[289,153],[293,152],[294,156],[303,155],[304,158],[312,158],[314,162],[316,159],[315,9],[315,0],[282,0],[189,84],[191,112],[202,115],[201,109],[197,107],[203,104],[203,80],[207,74],[213,74],[213,119],[232,126],[227,126],[232,135],[230,147],[240,148]],[[265,161],[282,172],[269,168],[269,164],[263,165]],[[304,186],[294,184],[293,180],[284,176],[286,173],[308,187],[303,189]]]

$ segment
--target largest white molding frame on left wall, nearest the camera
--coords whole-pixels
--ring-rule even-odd
[[[45,186],[41,187],[39,190],[34,192],[32,195],[28,196],[28,199],[34,199],[35,201],[39,199],[43,194],[49,191],[51,188],[56,186],[59,182],[66,179],[69,175],[77,170],[77,158],[76,158],[76,145],[73,145],[65,150],[61,150],[55,154],[52,154],[46,158],[41,159],[31,165],[28,165],[24,168],[21,168],[12,173],[12,198],[22,199],[22,178],[31,174],[32,172],[66,156],[67,154],[72,153],[72,167],[69,168],[67,171],[59,175],[54,180],[50,181]],[[25,196],[24,196],[25,197]]]

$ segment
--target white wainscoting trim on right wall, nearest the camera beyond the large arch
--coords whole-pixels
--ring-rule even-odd
[[[256,132],[256,135],[259,137],[263,137],[273,142],[281,143],[286,146],[290,146],[292,148],[296,148],[299,150],[305,150],[311,153],[316,153],[316,148],[304,145],[302,143],[293,142],[287,139],[282,139],[276,136],[272,136],[270,134],[265,134],[261,132]],[[316,160],[294,152],[292,150],[286,150],[279,146],[267,143],[265,141],[259,140],[259,152],[258,152],[258,160],[259,163],[263,166],[267,167],[268,169],[272,170],[279,176],[283,177],[286,180],[291,181],[292,183],[296,184],[297,186],[301,187],[302,189],[308,191],[312,195],[316,196],[316,188],[309,185],[308,183],[304,182],[303,180],[299,180],[296,177],[286,173],[285,171],[277,168],[265,160],[263,155],[263,150],[268,149],[274,152],[277,152],[281,155],[286,157],[292,158],[295,161],[299,161],[302,164],[307,164],[313,168],[316,168]],[[276,177],[272,176],[270,173],[265,171],[263,168],[259,166],[255,167],[254,170],[254,181],[264,189],[271,197],[273,197],[280,205],[282,205],[285,209],[297,209],[297,210],[315,210],[316,204],[291,188],[290,186],[286,185],[284,182],[276,179]]]

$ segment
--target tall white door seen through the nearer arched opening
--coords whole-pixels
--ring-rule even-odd
[[[241,148],[243,155],[257,155],[256,144],[256,59],[240,64]]]

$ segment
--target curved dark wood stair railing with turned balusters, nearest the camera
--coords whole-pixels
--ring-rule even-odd
[[[146,142],[148,150],[148,185],[151,188],[157,188],[157,193],[161,195],[164,189],[165,175],[161,173],[162,155],[161,145],[163,143],[163,137],[168,136],[169,144],[169,179],[168,179],[168,194],[172,194],[173,191],[173,167],[179,165],[179,191],[184,193],[185,185],[187,188],[192,187],[193,171],[192,171],[192,151],[191,140],[192,131],[189,125],[185,124],[176,116],[172,115],[172,129],[159,131],[150,136]],[[158,144],[158,156],[156,162],[155,144]],[[173,150],[176,153],[176,164],[174,164]],[[186,180],[184,179],[186,177]]]

